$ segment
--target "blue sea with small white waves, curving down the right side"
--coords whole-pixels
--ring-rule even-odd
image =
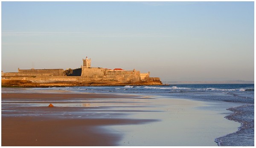
[[[254,84],[79,86],[33,89],[38,91],[40,91],[40,89],[49,89],[88,93],[139,94],[185,98],[205,102],[225,102],[224,104],[230,103],[231,107],[227,105],[227,110],[233,111],[234,113],[229,114],[225,118],[227,120],[240,122],[241,126],[238,128],[238,131],[234,133],[227,133],[227,135],[223,135],[223,137],[216,137],[215,142],[219,146],[254,146]],[[218,106],[216,106],[216,108],[218,108]]]

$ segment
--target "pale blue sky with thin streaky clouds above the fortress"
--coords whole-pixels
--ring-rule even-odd
[[[1,70],[122,68],[254,80],[254,2],[1,2]]]

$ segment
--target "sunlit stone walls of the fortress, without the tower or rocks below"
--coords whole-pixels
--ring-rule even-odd
[[[76,71],[77,70],[77,71]],[[120,83],[134,83],[141,81],[140,71],[124,71],[124,70],[111,70],[104,68],[78,68],[74,69],[73,78],[64,76],[63,69],[18,69],[19,72],[3,73],[2,77],[15,78],[16,80],[30,80],[33,82],[53,82],[53,81],[77,81],[78,78],[82,80],[117,80]],[[80,75],[81,74],[81,75]],[[80,76],[80,77],[79,77]],[[18,78],[20,77],[20,78]],[[25,79],[24,77],[28,77]],[[18,79],[17,79],[18,78]],[[78,80],[79,81],[79,80]]]

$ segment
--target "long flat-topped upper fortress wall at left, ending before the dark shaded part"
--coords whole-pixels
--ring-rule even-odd
[[[64,76],[63,71],[63,69],[18,69],[19,73],[52,74],[53,76]]]

